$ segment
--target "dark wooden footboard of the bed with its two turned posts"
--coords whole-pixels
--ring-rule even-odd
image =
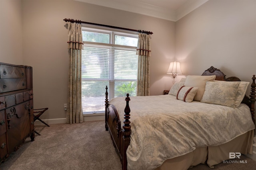
[[[123,130],[121,129],[121,121],[119,119],[118,112],[114,105],[109,104],[108,101],[108,87],[106,86],[106,99],[105,99],[105,128],[106,131],[110,131],[110,136],[114,147],[119,152],[120,160],[122,163],[122,170],[127,169],[127,157],[126,150],[130,145],[130,107],[129,107],[129,94],[126,95],[126,107],[124,109],[124,125]]]

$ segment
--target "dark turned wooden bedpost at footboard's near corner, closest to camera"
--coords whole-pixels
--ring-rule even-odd
[[[126,156],[126,150],[128,148],[128,146],[130,145],[130,135],[131,135],[131,125],[130,125],[130,106],[129,106],[129,94],[126,94],[126,107],[124,108],[124,125],[123,125],[123,140],[124,140],[124,145],[122,147],[122,169],[126,169],[127,168],[127,156]]]

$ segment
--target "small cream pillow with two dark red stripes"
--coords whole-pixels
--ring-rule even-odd
[[[196,96],[198,88],[197,87],[186,87],[182,86],[176,95],[178,100],[183,100],[184,102],[192,102]]]

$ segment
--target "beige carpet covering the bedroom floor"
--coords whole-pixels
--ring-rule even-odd
[[[54,124],[35,127],[41,133],[0,165],[1,170],[121,170],[104,121]],[[246,164],[218,164],[214,170],[256,170],[256,162],[242,156]],[[170,168],[171,170],[172,168]],[[175,170],[175,168],[173,168]],[[189,170],[213,170],[200,164]]]

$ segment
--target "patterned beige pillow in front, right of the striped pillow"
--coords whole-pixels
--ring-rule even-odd
[[[206,82],[205,92],[200,102],[235,108],[235,96],[239,84],[240,82]]]

